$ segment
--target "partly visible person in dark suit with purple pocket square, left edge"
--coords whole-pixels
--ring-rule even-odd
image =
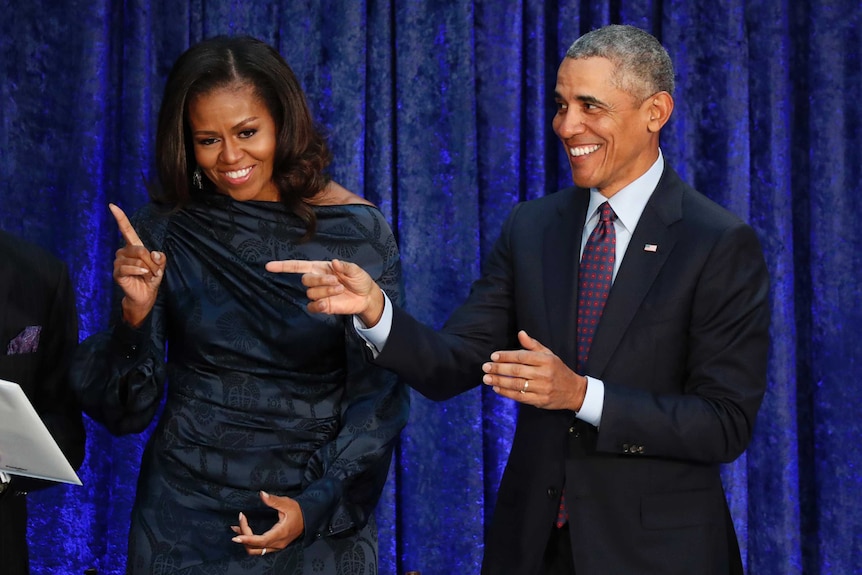
[[[77,469],[84,459],[84,424],[67,384],[69,361],[78,343],[74,295],[62,261],[0,231],[0,379],[21,386]],[[30,572],[25,495],[51,485],[23,476],[0,481],[4,575]]]

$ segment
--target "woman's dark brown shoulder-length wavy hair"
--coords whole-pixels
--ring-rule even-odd
[[[153,200],[174,208],[191,199],[195,170],[188,121],[189,102],[220,88],[249,86],[272,115],[276,128],[272,181],[281,201],[305,223],[305,238],[314,234],[314,211],[303,200],[329,183],[324,169],[331,160],[305,94],[287,62],[271,46],[248,36],[216,36],[186,50],[174,63],[165,84],[156,133],[156,162],[161,186]],[[203,178],[204,191],[214,191]]]

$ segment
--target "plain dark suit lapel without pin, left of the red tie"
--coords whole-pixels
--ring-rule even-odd
[[[589,201],[589,191],[576,190],[545,229],[542,243],[545,317],[551,333],[550,341],[542,343],[573,368],[577,364],[578,255]]]

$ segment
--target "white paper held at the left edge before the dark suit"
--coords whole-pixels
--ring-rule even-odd
[[[0,471],[81,485],[24,390],[0,379]]]

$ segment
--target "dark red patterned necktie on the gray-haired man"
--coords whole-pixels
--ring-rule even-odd
[[[590,234],[581,266],[578,270],[578,373],[583,373],[593,344],[593,334],[605,300],[614,281],[614,261],[616,260],[617,235],[614,230],[616,214],[608,202],[599,206],[599,223]],[[557,527],[569,520],[566,511],[566,492],[560,496],[560,509],[557,513]]]

